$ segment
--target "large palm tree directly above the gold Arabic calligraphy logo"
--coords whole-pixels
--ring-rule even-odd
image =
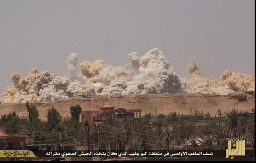
[[[228,124],[226,127],[228,127],[228,132],[231,133],[233,132],[233,135],[235,138],[237,138],[237,130],[238,130],[238,125],[239,125],[239,117],[241,117],[242,110],[238,112],[238,109],[232,109],[231,111],[226,111],[224,112],[226,115],[226,122]]]

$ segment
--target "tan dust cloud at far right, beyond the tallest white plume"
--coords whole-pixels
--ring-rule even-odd
[[[215,77],[208,78],[201,72],[196,61],[188,64],[187,69],[187,93],[227,95],[234,91],[255,90],[255,78],[251,75],[226,70],[219,80]]]

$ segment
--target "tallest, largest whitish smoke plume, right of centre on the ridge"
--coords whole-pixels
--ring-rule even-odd
[[[136,52],[129,55],[132,67],[139,71],[134,80],[140,82],[142,94],[146,93],[179,93],[181,81],[179,75],[173,72],[169,61],[158,48],[149,50],[143,56]]]

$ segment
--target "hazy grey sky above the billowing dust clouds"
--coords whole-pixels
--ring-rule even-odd
[[[0,0],[0,94],[13,72],[64,75],[71,52],[119,66],[158,47],[181,76],[193,59],[255,75],[254,15],[254,0]]]

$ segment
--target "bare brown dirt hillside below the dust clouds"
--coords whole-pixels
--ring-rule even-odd
[[[52,106],[59,111],[62,117],[65,117],[70,116],[69,108],[71,105],[79,104],[83,110],[100,110],[100,107],[106,103],[115,108],[142,109],[142,115],[146,113],[155,114],[154,108],[157,108],[157,114],[168,114],[171,111],[188,114],[193,107],[204,113],[209,111],[211,116],[214,116],[218,109],[221,109],[222,113],[232,108],[250,111],[255,106],[255,97],[248,95],[247,101],[238,101],[228,96],[198,93],[100,95],[87,98],[71,97],[63,101],[35,103],[35,105],[39,110],[39,118],[46,121],[47,109]],[[0,114],[8,114],[12,111],[16,111],[21,118],[28,117],[25,103],[0,104]]]

